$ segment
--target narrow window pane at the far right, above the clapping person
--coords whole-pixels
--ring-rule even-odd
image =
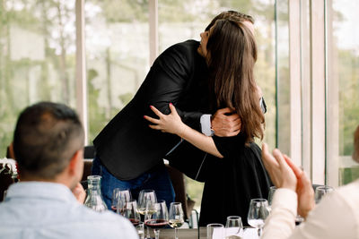
[[[338,184],[359,177],[351,159],[359,124],[359,6],[355,0],[328,1],[328,162]],[[334,148],[334,149],[333,149]],[[331,151],[330,151],[331,150]]]

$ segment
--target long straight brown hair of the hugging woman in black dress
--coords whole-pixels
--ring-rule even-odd
[[[207,43],[207,63],[214,107],[233,108],[241,117],[241,132],[250,142],[253,137],[263,139],[265,119],[253,74],[257,45],[250,29],[237,20],[215,21]]]

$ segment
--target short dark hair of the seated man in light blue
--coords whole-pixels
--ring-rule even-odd
[[[83,126],[70,107],[39,102],[25,108],[13,133],[20,175],[53,179],[83,148]]]

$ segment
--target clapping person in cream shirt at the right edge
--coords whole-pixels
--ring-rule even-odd
[[[278,189],[261,238],[359,238],[359,180],[328,194],[314,209],[308,177],[278,149],[273,156],[263,144],[263,162]],[[359,127],[353,159],[359,161]],[[297,210],[305,222],[295,227]]]

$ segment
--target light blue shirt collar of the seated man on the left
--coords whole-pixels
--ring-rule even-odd
[[[6,192],[6,200],[20,198],[48,199],[57,201],[76,201],[74,194],[64,184],[48,182],[21,182],[12,184]]]

